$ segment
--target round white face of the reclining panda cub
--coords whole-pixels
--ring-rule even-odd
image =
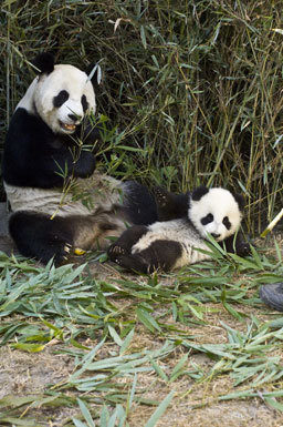
[[[202,237],[211,234],[221,242],[238,231],[242,213],[230,191],[213,187],[200,200],[190,199],[188,217]]]

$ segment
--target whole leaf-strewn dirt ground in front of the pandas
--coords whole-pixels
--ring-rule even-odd
[[[0,248],[10,253],[6,206],[0,207]],[[13,285],[22,292],[19,305],[13,297],[3,299],[0,308],[8,313],[0,326],[6,337],[0,347],[0,425],[85,427],[93,426],[93,419],[95,425],[116,426],[119,418],[115,424],[111,415],[122,404],[127,408],[122,426],[283,426],[283,325],[280,314],[258,295],[259,284],[270,279],[277,265],[270,266],[265,258],[256,262],[264,268],[253,267],[254,273],[243,264],[240,272],[223,270],[220,275],[209,264],[205,274],[196,267],[205,293],[197,281],[191,282],[192,271],[150,282],[90,260],[87,277],[93,282],[85,285],[80,275],[70,276],[72,268],[44,276],[39,265],[30,272],[28,264],[11,264],[11,277],[17,268],[28,275],[27,279],[18,275],[19,284]],[[52,275],[55,278],[49,282]],[[24,281],[31,283],[34,276],[39,281],[29,294]],[[223,285],[231,278],[233,286]],[[74,305],[70,286],[77,295]],[[2,291],[0,284],[0,295]],[[53,291],[57,299],[50,305]],[[38,307],[43,327],[35,316]],[[30,342],[42,343],[42,349],[31,353],[21,347]],[[150,418],[171,390],[170,404]]]

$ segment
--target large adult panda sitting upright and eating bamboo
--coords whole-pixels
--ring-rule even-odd
[[[3,152],[3,185],[11,206],[10,234],[19,252],[56,265],[74,248],[105,248],[126,224],[157,220],[145,186],[95,170],[94,88],[70,64],[36,57],[38,75],[18,103]],[[86,203],[87,202],[87,203]]]

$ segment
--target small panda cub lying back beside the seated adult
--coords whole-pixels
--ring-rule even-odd
[[[133,226],[108,248],[109,258],[122,267],[140,273],[169,272],[208,260],[209,254],[198,251],[208,250],[208,234],[217,242],[223,242],[229,252],[249,253],[248,245],[235,235],[244,205],[241,195],[205,186],[186,195],[160,189],[156,194],[163,222]]]

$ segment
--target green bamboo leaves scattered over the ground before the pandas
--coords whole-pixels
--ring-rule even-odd
[[[78,415],[64,426],[92,426],[99,419],[101,426],[126,427],[135,403],[157,406],[146,424],[155,426],[170,401],[186,397],[172,392],[184,377],[203,384],[227,376],[233,393],[223,390],[214,400],[247,399],[261,393],[266,404],[283,410],[282,363],[276,354],[282,347],[282,319],[262,323],[245,311],[260,307],[259,284],[282,281],[282,258],[253,251],[243,260],[213,246],[211,251],[212,261],[175,274],[108,281],[93,278],[87,264],[44,268],[0,254],[0,344],[34,353],[55,339],[55,352],[74,360],[69,377],[43,393],[1,399],[0,421],[20,426],[27,419],[24,426],[38,426],[30,410],[25,418],[24,407],[71,406],[77,407]],[[165,286],[168,281],[169,287]],[[208,336],[206,344],[199,344],[188,327],[201,331],[210,325],[208,314],[221,309],[243,327],[220,322],[218,327],[227,336],[223,343],[213,344]],[[148,345],[137,349],[133,344],[140,334],[149,334]],[[155,342],[158,345],[153,346]],[[172,364],[180,349],[184,356]],[[107,356],[101,357],[101,352]],[[206,355],[209,368],[189,363],[191,354]],[[149,389],[159,379],[171,393],[159,401],[148,399],[148,389],[138,384],[143,373],[151,373]],[[120,383],[122,378],[127,382]],[[195,407],[209,401],[203,396]]]

